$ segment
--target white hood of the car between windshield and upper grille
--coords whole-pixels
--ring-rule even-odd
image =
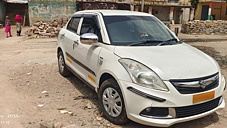
[[[136,60],[159,75],[162,80],[191,79],[219,71],[210,56],[185,43],[165,46],[116,46],[121,58]]]

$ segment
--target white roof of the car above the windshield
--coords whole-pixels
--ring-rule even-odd
[[[75,14],[85,14],[85,13],[101,13],[104,16],[111,16],[111,15],[151,16],[151,14],[148,14],[148,13],[128,11],[128,10],[84,10],[84,11],[78,11]]]

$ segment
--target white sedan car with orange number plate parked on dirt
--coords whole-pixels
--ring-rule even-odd
[[[98,94],[106,119],[168,127],[224,108],[218,63],[140,12],[76,12],[58,36],[58,65]]]

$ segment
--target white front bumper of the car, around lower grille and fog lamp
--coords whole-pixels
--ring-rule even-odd
[[[203,92],[203,93],[214,92],[214,97],[212,99],[200,101],[198,103],[193,103],[193,96],[197,94],[180,94],[168,81],[164,81],[164,83],[170,90],[168,92],[149,89],[127,81],[120,80],[118,82],[120,83],[120,87],[124,96],[124,102],[128,118],[135,122],[149,126],[169,127],[176,123],[204,117],[215,112],[218,109],[222,109],[225,107],[225,101],[224,98],[222,98],[223,90],[225,88],[224,77],[220,78],[219,86],[217,88],[214,88],[207,92]],[[132,89],[135,90],[133,91]],[[195,115],[179,118],[176,117],[176,114],[175,117],[172,116],[174,114],[169,114],[166,117],[141,115],[141,112],[149,107],[174,108],[173,110],[176,110],[175,108],[178,107],[191,107],[200,104],[207,105],[208,102],[215,99],[218,100],[217,106],[215,106],[212,109],[209,109],[208,111],[201,112]],[[193,109],[191,109],[191,111],[193,111]]]

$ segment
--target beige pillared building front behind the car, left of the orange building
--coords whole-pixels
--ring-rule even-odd
[[[142,11],[142,1],[135,0],[135,10]],[[145,0],[144,12],[153,14],[163,22],[180,24],[192,20],[194,9],[189,0]]]

